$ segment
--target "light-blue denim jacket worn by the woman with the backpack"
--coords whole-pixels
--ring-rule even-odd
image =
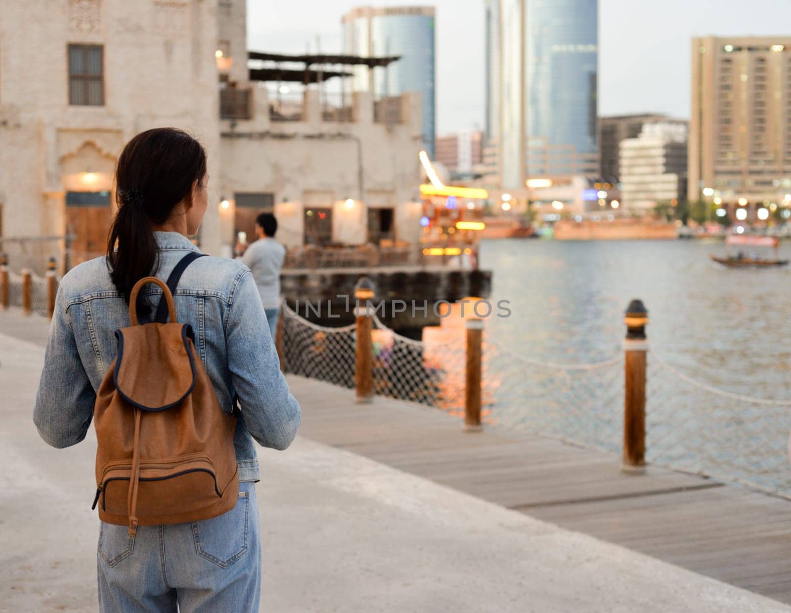
[[[166,280],[188,251],[184,235],[155,232],[157,276]],[[142,289],[156,304],[161,290]],[[230,412],[237,396],[241,416],[234,446],[240,481],[257,481],[255,438],[265,447],[286,449],[297,435],[301,412],[286,378],[250,269],[240,261],[198,258],[184,271],[176,295],[176,317],[192,325],[197,349],[220,406]],[[85,438],[104,374],[115,359],[115,330],[130,325],[129,308],[112,284],[104,258],[76,266],[63,277],[47,340],[33,420],[54,447]]]

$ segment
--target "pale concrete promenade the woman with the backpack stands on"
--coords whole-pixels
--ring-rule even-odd
[[[45,326],[46,320],[13,310],[0,313],[0,611],[96,611],[93,429],[85,442],[58,450],[40,441],[31,422]],[[261,611],[791,611],[312,441],[335,431],[350,449],[356,441],[364,452],[379,446],[397,455],[387,430],[358,424],[355,434],[348,421],[343,431],[329,418],[332,401],[323,402],[322,394],[328,398],[331,388],[292,383],[305,405],[307,438],[284,453],[259,454]],[[346,394],[353,413],[351,394],[337,392]],[[440,418],[458,432],[458,423],[435,412],[408,408],[407,414],[411,423],[426,423],[424,438]],[[403,433],[392,434],[403,440]],[[485,440],[464,436],[472,446]]]

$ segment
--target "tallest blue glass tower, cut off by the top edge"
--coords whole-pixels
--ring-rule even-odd
[[[498,107],[502,186],[598,174],[597,0],[499,0],[499,57],[487,100]]]

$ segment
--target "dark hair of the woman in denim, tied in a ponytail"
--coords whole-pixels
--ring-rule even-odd
[[[195,181],[206,175],[206,151],[186,132],[156,128],[141,132],[123,148],[115,169],[115,201],[107,246],[110,277],[129,300],[134,284],[157,272],[152,226],[189,201]]]

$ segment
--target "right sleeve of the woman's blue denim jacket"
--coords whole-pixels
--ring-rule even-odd
[[[245,427],[264,447],[286,449],[297,436],[301,411],[280,371],[261,297],[246,268],[233,292],[225,344]]]

